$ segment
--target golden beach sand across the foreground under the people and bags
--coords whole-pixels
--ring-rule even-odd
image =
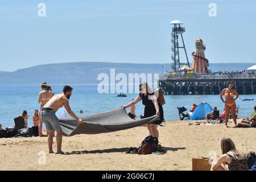
[[[64,137],[65,155],[48,154],[46,137],[3,138],[0,170],[192,170],[192,158],[208,157],[210,151],[221,154],[222,137],[232,138],[242,152],[256,152],[253,128],[233,129],[224,124],[188,126],[187,121],[163,125],[159,127],[159,141],[167,150],[164,155],[125,154],[148,135],[145,127]],[[232,122],[229,125],[234,126]],[[53,148],[56,151],[55,139]]]

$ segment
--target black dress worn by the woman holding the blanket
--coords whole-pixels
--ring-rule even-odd
[[[154,96],[154,93],[149,94],[149,95]],[[148,117],[151,117],[151,116],[155,115],[156,114],[155,105],[152,102],[152,100],[148,99],[148,95],[145,96],[143,93],[139,93],[139,97],[142,98],[142,104],[145,106],[144,118],[148,118]],[[164,118],[163,118],[163,107],[159,103],[158,103],[158,106],[159,106],[159,112],[160,112],[159,120],[157,120],[155,122],[152,122],[155,125],[159,125],[164,120]]]

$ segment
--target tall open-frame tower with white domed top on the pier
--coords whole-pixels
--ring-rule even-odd
[[[173,20],[170,24],[173,24],[174,27],[172,28],[172,61],[174,61],[174,63],[172,63],[172,69],[174,69],[174,71],[178,71],[179,68],[182,67],[182,65],[189,65],[188,62],[188,55],[187,55],[187,51],[185,48],[185,44],[184,44],[184,39],[182,34],[185,32],[185,28],[181,27],[180,25],[183,24],[180,20]],[[183,46],[179,46],[179,35],[181,36],[181,40],[183,43]],[[184,49],[185,51],[185,55],[187,58],[187,63],[181,63],[180,61],[180,49]]]

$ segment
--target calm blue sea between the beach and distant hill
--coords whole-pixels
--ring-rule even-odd
[[[127,94],[127,97],[116,97],[117,94],[99,94],[97,92],[97,85],[71,85],[73,87],[73,94],[71,96],[70,105],[73,111],[78,116],[92,115],[96,113],[105,112],[112,109],[117,109],[122,105],[127,104],[138,94]],[[52,85],[55,94],[61,93],[63,85]],[[0,87],[0,123],[3,127],[14,126],[13,118],[22,114],[23,110],[27,110],[30,114],[28,119],[28,126],[32,126],[32,115],[34,110],[39,108],[38,93],[40,86],[1,86]],[[222,110],[224,105],[220,101],[219,96],[164,96],[166,105],[164,109],[164,119],[166,121],[178,120],[179,114],[177,106],[185,106],[191,109],[193,103],[200,104],[201,102],[208,102],[212,107],[217,106]],[[240,96],[241,98],[254,98],[254,101],[237,101],[240,105],[240,118],[245,118],[254,112],[253,107],[256,105],[256,95]],[[138,103],[136,105],[136,114],[143,114],[143,105]],[[84,113],[80,114],[80,110]],[[127,111],[129,111],[127,109]]]

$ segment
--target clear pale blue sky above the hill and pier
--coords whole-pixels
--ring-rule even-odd
[[[209,16],[210,3],[216,16]],[[255,0],[5,0],[0,71],[77,61],[172,63],[175,19],[184,23],[189,62],[201,38],[209,63],[256,63]]]

